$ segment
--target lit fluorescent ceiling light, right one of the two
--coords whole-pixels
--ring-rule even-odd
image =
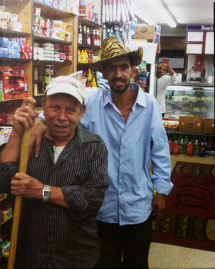
[[[149,4],[160,14],[161,17],[165,20],[171,28],[175,28],[177,23],[175,19],[171,16],[170,12],[163,6],[160,0],[150,0]]]

